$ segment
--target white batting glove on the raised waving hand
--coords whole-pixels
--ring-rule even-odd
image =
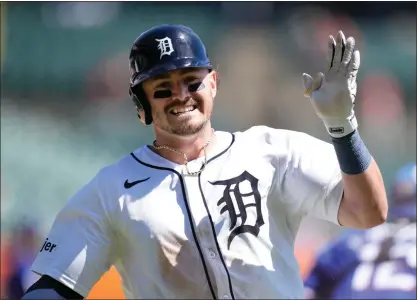
[[[325,75],[318,73],[315,80],[306,73],[302,75],[304,96],[311,100],[328,133],[335,138],[352,133],[358,126],[354,102],[360,52],[354,51],[354,46],[354,38],[346,40],[342,31],[337,41],[330,36]]]

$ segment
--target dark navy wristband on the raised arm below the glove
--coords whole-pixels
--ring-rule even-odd
[[[332,138],[332,143],[344,173],[360,174],[369,167],[372,156],[357,130],[342,138]]]

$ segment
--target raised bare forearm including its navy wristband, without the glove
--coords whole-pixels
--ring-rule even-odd
[[[382,224],[388,205],[382,175],[358,132],[333,139],[343,176],[344,195],[338,213],[341,225],[371,228]]]

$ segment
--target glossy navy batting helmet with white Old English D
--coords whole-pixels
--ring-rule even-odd
[[[206,48],[192,29],[183,25],[159,25],[142,33],[129,55],[129,95],[146,125],[152,123],[151,106],[142,83],[156,75],[181,68],[206,67],[212,70]]]

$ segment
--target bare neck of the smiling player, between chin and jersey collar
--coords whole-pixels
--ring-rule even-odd
[[[177,151],[181,151],[187,155],[188,161],[192,161],[199,157],[204,156],[203,147],[210,141],[206,147],[206,151],[212,148],[215,143],[215,137],[213,136],[213,129],[208,124],[197,134],[187,137],[179,137],[170,134],[156,133],[156,144],[157,146],[168,146]],[[180,153],[176,153],[167,149],[155,149],[153,151],[161,155],[162,157],[178,164],[184,164],[184,156]]]

